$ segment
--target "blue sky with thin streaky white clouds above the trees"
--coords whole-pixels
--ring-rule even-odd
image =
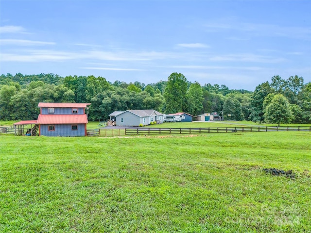
[[[311,1],[0,0],[0,74],[311,82]]]

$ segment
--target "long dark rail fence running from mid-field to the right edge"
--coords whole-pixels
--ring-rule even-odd
[[[125,129],[125,134],[182,134],[182,133],[246,133],[271,131],[310,131],[311,126],[259,126],[216,128],[137,128]]]

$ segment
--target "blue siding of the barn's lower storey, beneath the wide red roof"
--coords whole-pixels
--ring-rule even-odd
[[[71,130],[71,125],[77,125],[78,130]],[[54,125],[55,131],[49,131],[49,125],[40,125],[40,135],[43,136],[61,136],[61,137],[76,137],[85,136],[85,124],[63,124]]]

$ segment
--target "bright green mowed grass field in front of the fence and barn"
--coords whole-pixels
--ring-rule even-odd
[[[310,132],[0,135],[1,233],[305,233],[310,206]]]

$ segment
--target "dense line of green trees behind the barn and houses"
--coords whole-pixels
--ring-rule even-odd
[[[193,116],[221,112],[228,120],[272,123],[311,122],[311,83],[302,77],[273,76],[253,92],[226,85],[189,82],[172,73],[167,81],[144,84],[106,81],[95,76],[1,75],[0,120],[36,119],[38,102],[88,102],[89,120],[106,120],[113,111],[155,109]]]

